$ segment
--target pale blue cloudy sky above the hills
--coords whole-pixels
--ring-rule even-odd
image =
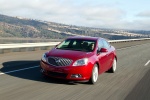
[[[0,14],[86,27],[150,30],[150,0],[0,0]]]

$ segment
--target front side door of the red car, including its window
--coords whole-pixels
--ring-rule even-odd
[[[101,50],[101,48],[104,48],[103,41],[100,39],[98,40],[98,51]],[[107,57],[107,52],[98,52],[97,57],[99,60],[99,65],[100,65],[100,73],[106,71],[107,66],[108,66],[108,57]]]

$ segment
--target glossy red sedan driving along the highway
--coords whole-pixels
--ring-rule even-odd
[[[70,37],[43,54],[40,66],[45,76],[94,84],[98,75],[116,71],[116,50],[98,37]]]

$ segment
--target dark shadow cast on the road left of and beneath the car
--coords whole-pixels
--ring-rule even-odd
[[[17,78],[46,82],[51,84],[77,85],[79,83],[88,85],[88,83],[83,82],[71,82],[50,77],[45,78],[40,72],[39,65],[40,61],[9,61],[2,63],[0,72]]]

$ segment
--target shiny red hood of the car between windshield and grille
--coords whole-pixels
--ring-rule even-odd
[[[92,55],[92,52],[83,52],[83,51],[74,51],[74,50],[62,50],[62,49],[52,49],[51,51],[47,52],[47,57],[62,57],[62,58],[69,58],[72,60],[77,60],[81,58],[88,58]]]

